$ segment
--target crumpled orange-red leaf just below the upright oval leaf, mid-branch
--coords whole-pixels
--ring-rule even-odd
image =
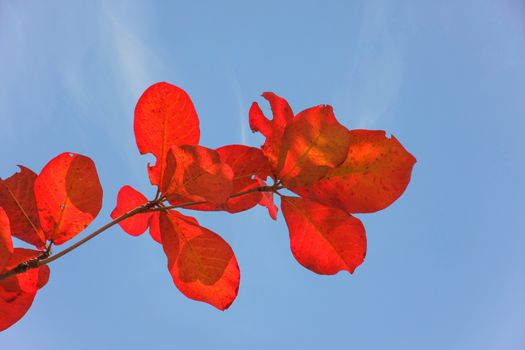
[[[217,151],[202,146],[172,146],[161,191],[171,203],[221,204],[233,191],[233,171]]]

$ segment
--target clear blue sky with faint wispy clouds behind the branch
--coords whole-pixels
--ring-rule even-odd
[[[418,159],[401,199],[359,216],[352,276],[302,268],[282,216],[198,213],[241,267],[219,312],[178,292],[147,235],[115,228],[52,264],[0,347],[525,348],[524,59],[520,0],[0,0],[0,176],[90,156],[104,187],[91,228],[122,185],[154,195],[132,122],[157,81],[188,91],[208,147],[260,145],[247,111],[274,91]]]

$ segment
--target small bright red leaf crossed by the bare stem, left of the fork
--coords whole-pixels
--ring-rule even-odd
[[[144,197],[142,193],[135,190],[131,186],[123,186],[117,195],[117,206],[111,212],[111,218],[116,219],[121,215],[126,214],[144,203],[147,203],[148,199]],[[124,232],[132,236],[140,236],[148,228],[149,218],[152,213],[136,214],[125,220],[119,222],[120,227]]]

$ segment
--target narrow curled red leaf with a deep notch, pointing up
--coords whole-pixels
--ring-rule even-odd
[[[254,102],[250,108],[250,127],[253,131],[259,131],[266,136],[261,149],[270,161],[272,169],[277,169],[279,151],[286,125],[292,121],[293,112],[288,102],[273,92],[265,92],[262,96],[270,102],[273,119],[266,118],[257,104]]]

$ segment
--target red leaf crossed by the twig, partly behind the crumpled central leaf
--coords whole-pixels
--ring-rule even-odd
[[[244,145],[227,145],[217,149],[221,161],[233,171],[232,194],[237,194],[260,185],[254,178],[266,178],[270,175],[268,159],[259,148]],[[204,205],[191,206],[188,209],[195,210],[225,210],[229,213],[238,213],[256,206],[262,199],[261,192],[252,192],[242,196],[230,197],[226,202],[220,204],[207,203]]]

